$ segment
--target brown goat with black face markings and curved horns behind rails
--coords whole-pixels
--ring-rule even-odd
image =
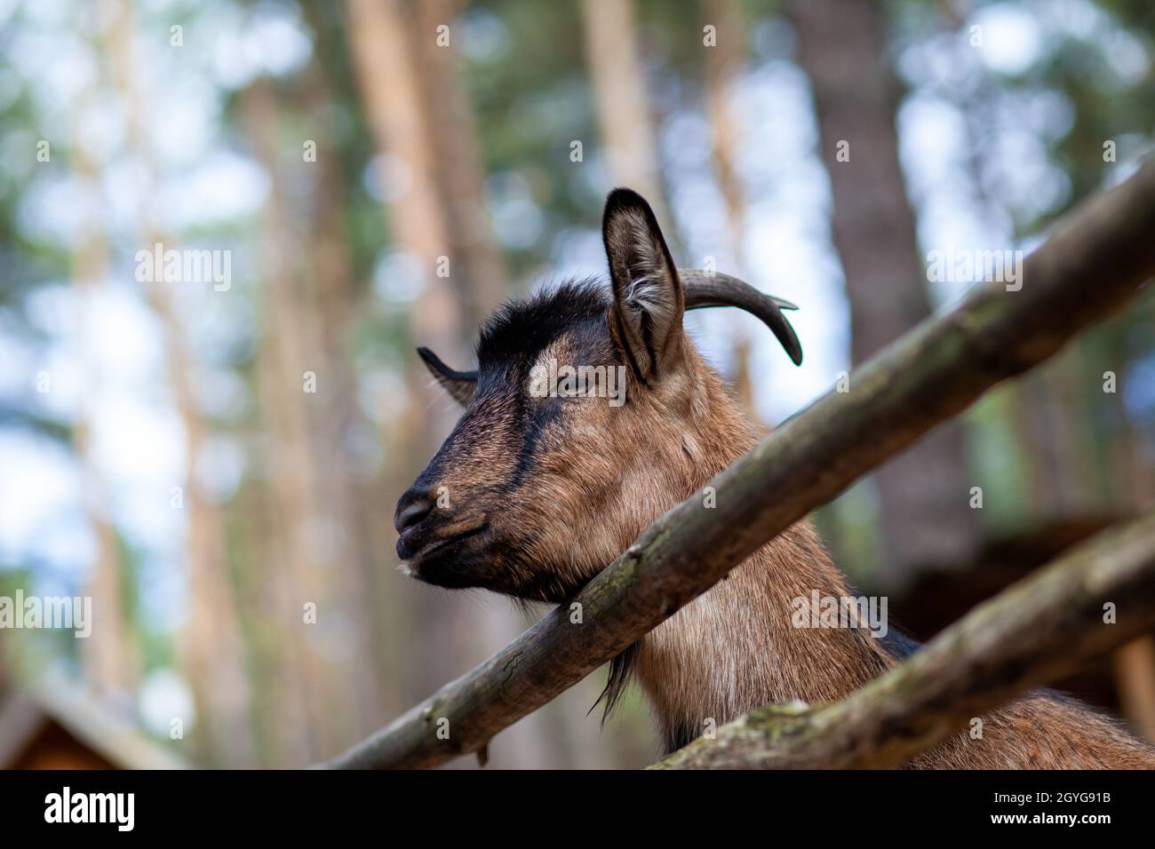
[[[477,372],[418,349],[465,409],[397,504],[397,554],[409,575],[565,602],[759,438],[683,332],[683,314],[739,306],[799,364],[802,348],[782,313],[796,307],[725,275],[678,271],[650,207],[628,189],[610,194],[602,236],[609,291],[568,282],[500,307],[482,330]],[[572,380],[530,392],[557,363],[620,368],[626,403],[589,397]],[[614,658],[606,713],[636,676],[670,752],[711,720],[770,702],[841,699],[917,648],[862,627],[792,627],[791,599],[815,590],[851,595],[800,521]],[[1041,690],[983,717],[981,738],[960,733],[910,766],[1150,768],[1155,747]]]

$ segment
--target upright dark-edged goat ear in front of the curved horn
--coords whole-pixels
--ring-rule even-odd
[[[649,203],[628,188],[613,189],[602,240],[613,285],[610,327],[638,375],[660,378],[681,356],[685,296]]]

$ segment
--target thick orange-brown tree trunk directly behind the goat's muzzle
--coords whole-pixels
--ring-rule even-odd
[[[467,323],[469,314],[492,307],[504,286],[500,255],[483,223],[476,139],[450,139],[472,127],[468,118],[459,124],[468,114],[468,102],[453,77],[453,7],[438,2],[418,13],[396,0],[350,0],[349,38],[378,149],[404,163],[410,176],[408,191],[388,204],[387,213],[394,244],[422,268],[423,288],[412,306],[413,337],[447,362],[465,367],[467,338],[476,332]],[[450,27],[448,47],[434,40],[440,24]],[[423,81],[423,72],[430,79]],[[393,186],[385,188],[387,196],[395,194]],[[448,276],[438,274],[440,258],[449,260]],[[393,457],[405,459],[392,469],[397,494],[420,471],[415,461],[437,452],[459,415],[416,355],[408,358],[407,387],[408,401],[390,452]],[[413,647],[407,682],[410,694],[429,692],[515,633],[507,615],[472,605],[462,595],[444,596],[409,582],[398,583],[396,591],[408,612],[404,627]],[[543,766],[550,745],[541,721],[535,718],[512,733],[514,742],[495,766]]]

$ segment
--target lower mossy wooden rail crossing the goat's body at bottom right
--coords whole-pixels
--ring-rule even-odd
[[[651,768],[900,767],[973,717],[1153,626],[1155,513],[1103,531],[978,605],[842,701],[754,710]]]

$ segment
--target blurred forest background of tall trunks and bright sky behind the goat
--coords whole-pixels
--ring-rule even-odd
[[[0,594],[95,608],[88,639],[0,631],[0,691],[222,767],[334,755],[529,624],[395,569],[456,415],[413,348],[471,367],[495,304],[603,274],[610,188],[679,263],[802,306],[802,368],[687,318],[774,425],[964,293],[930,251],[1029,252],[1155,134],[1149,0],[0,0]],[[228,252],[231,285],[140,282],[157,243]],[[1153,321],[821,509],[857,586],[925,636],[1150,507]],[[1153,735],[1152,646],[1071,686]],[[640,698],[587,716],[602,683],[491,762],[651,760]]]

